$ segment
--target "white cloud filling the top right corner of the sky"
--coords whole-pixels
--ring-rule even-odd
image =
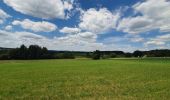
[[[170,16],[170,2],[168,0],[146,0],[137,3],[133,8],[142,15],[153,19],[162,19]]]

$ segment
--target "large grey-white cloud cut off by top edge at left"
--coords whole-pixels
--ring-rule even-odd
[[[72,3],[63,0],[3,0],[14,10],[43,19],[66,18],[65,11],[73,8]]]

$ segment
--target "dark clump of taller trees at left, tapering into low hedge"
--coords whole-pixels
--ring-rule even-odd
[[[21,45],[15,49],[2,49],[0,50],[1,60],[29,60],[29,59],[73,59],[74,55],[71,52],[53,53],[46,47],[40,47],[38,45],[30,45],[28,48],[25,45]]]

